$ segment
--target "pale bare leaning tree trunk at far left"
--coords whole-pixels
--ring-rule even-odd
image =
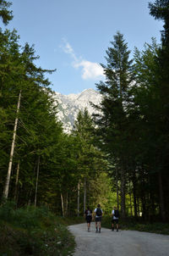
[[[13,165],[16,131],[17,131],[18,120],[19,120],[18,115],[19,115],[19,108],[20,108],[20,98],[21,98],[21,91],[19,92],[19,100],[18,100],[17,110],[16,110],[16,119],[14,122],[14,134],[13,134],[13,141],[12,141],[12,145],[11,145],[10,158],[9,158],[9,163],[8,163],[8,174],[7,174],[6,183],[5,183],[4,190],[3,190],[3,198],[5,200],[8,199],[8,190],[9,190],[9,182],[10,182],[11,170],[12,170],[12,165]]]

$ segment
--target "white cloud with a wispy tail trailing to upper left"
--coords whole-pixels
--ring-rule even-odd
[[[62,48],[64,53],[68,53],[74,59],[74,62],[72,63],[73,67],[76,69],[82,67],[82,78],[84,80],[95,80],[101,78],[101,76],[104,76],[103,68],[100,64],[90,62],[82,58],[77,58],[73,47],[71,47],[71,45],[65,39],[63,39],[63,42],[64,46],[62,46]]]

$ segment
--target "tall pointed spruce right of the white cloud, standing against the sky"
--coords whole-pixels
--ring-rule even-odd
[[[123,35],[117,32],[112,47],[106,51],[106,65],[101,64],[106,75],[106,81],[97,84],[97,88],[103,95],[101,115],[96,118],[99,132],[103,140],[103,147],[117,164],[117,170],[121,177],[121,210],[125,217],[125,188],[126,188],[126,137],[128,104],[128,89],[134,80],[132,62],[129,59],[128,45]],[[96,116],[95,116],[96,117]]]

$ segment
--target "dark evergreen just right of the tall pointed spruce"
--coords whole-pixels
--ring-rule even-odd
[[[134,215],[141,206],[142,218],[148,220],[155,213],[156,172],[159,166],[155,160],[157,138],[160,136],[157,122],[160,118],[159,95],[155,86],[155,76],[159,46],[155,39],[144,44],[144,50],[134,53],[135,85],[131,92],[132,101],[128,106],[128,120],[132,137],[130,140],[133,171],[130,172],[134,187]],[[138,204],[138,205],[137,205]],[[154,209],[154,210],[152,210]]]

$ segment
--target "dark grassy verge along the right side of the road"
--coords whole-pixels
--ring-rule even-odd
[[[107,215],[103,216],[101,226],[111,229],[112,217]],[[169,223],[149,223],[142,220],[136,221],[134,218],[127,218],[126,220],[119,219],[119,229],[169,235]]]

